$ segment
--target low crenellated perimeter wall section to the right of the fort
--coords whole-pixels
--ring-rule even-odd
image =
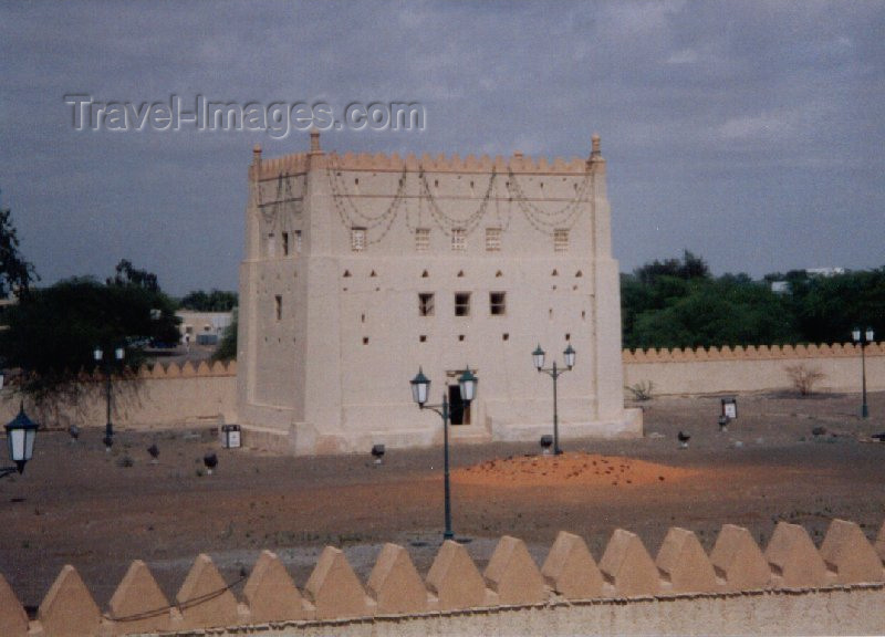
[[[885,343],[864,352],[866,386],[885,390]],[[656,396],[794,390],[790,369],[820,372],[815,391],[860,391],[861,347],[854,344],[624,351],[624,384],[652,383]]]

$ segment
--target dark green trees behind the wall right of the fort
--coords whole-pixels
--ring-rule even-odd
[[[773,291],[773,282],[783,282]],[[686,251],[621,275],[623,345],[636,348],[844,343],[853,327],[885,336],[885,268],[714,276]]]

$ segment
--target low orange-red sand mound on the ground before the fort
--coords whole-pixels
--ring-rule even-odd
[[[452,480],[464,484],[529,487],[575,484],[635,487],[675,482],[695,473],[689,469],[655,464],[622,456],[563,453],[561,456],[511,456],[456,469]]]

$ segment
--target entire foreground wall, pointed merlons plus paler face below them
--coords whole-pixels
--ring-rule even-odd
[[[303,589],[268,551],[235,583],[199,555],[171,604],[133,562],[104,612],[69,565],[32,620],[0,576],[0,635],[883,634],[883,557],[885,524],[871,544],[843,520],[820,547],[781,522],[764,551],[727,524],[709,555],[673,528],[655,558],[618,529],[598,562],[582,537],[561,532],[540,568],[506,535],[481,573],[446,541],[424,578],[405,549],[386,544],[365,583],[329,546]]]

